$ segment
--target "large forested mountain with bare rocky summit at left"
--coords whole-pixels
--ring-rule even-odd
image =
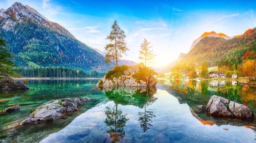
[[[114,67],[93,48],[77,40],[35,9],[14,3],[0,9],[0,33],[18,66],[60,66],[107,71]]]

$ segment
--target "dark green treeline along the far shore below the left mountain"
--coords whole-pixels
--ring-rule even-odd
[[[82,69],[70,69],[63,67],[33,67],[18,68],[20,75],[23,77],[56,77],[56,78],[86,78],[86,77],[103,77],[105,72],[90,70],[88,72]]]

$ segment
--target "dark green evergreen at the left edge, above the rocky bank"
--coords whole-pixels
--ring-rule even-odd
[[[17,75],[17,67],[12,61],[12,54],[7,50],[9,49],[6,45],[6,40],[1,38],[0,34],[0,73],[5,73],[7,75]]]

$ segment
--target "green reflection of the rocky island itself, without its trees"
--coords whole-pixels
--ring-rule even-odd
[[[116,104],[143,108],[156,93],[156,88],[146,87],[99,87],[105,96]]]

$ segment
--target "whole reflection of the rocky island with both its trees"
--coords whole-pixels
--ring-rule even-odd
[[[155,117],[154,109],[146,110],[146,106],[154,103],[157,98],[153,97],[157,89],[155,87],[99,87],[105,96],[114,101],[114,107],[106,107],[105,114],[107,118],[105,123],[110,126],[107,132],[112,138],[112,142],[119,142],[125,135],[124,127],[126,126],[126,114],[122,115],[122,111],[117,109],[117,105],[133,105],[139,108],[144,107],[144,112],[139,112],[140,126],[145,132],[152,126],[152,118]]]

